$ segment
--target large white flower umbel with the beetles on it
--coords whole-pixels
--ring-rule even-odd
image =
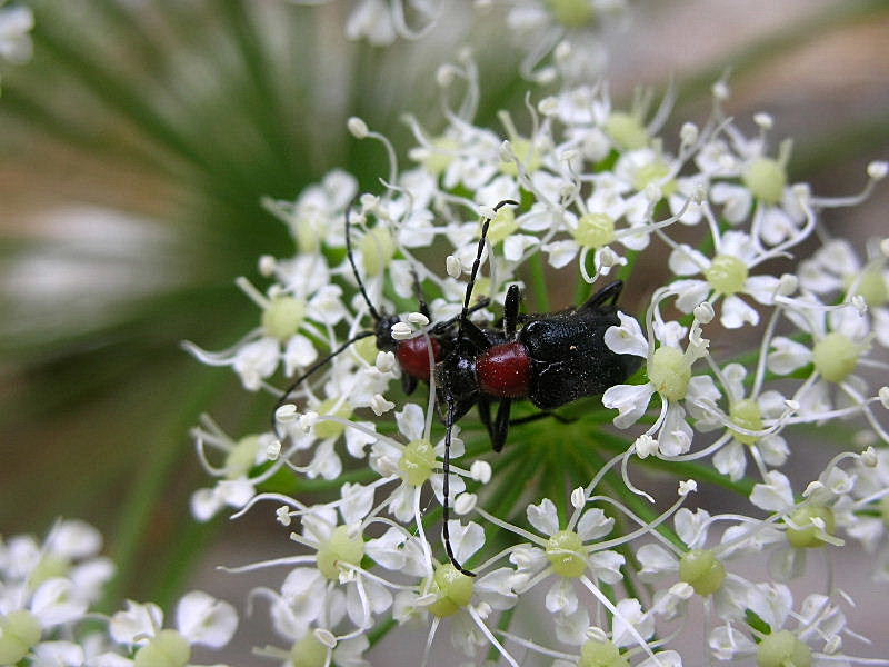
[[[528,130],[503,112],[497,131],[473,125],[471,58],[442,68],[439,82],[461,82],[466,93],[439,132],[406,119],[416,166],[400,168],[388,140],[351,119],[357,138],[389,153],[381,192],[357,196],[356,179],[334,171],[294,202],[268,201],[299,251],[261,258],[264,290],[239,279],[260,325],[223,352],[187,344],[201,360],[231,366],[249,390],[281,396],[272,384],[279,369],[281,385],[294,380],[287,394],[299,408],[281,406],[269,432],[234,440],[209,418],[194,431],[219,480],[196,494],[198,518],[272,501],[278,520],[293,526],[292,557],[237,568],[292,568],[254,593],[284,643],[262,653],[288,667],[367,665],[372,640],[420,626],[422,664],[448,628],[471,664],[496,650],[513,666],[675,666],[682,658],[671,640],[696,629],[681,620],[698,604],[712,628],[701,644],[717,659],[855,661],[843,653],[855,635],[838,589],[829,585],[793,610],[788,584],[807,554],[848,538],[879,552],[878,575],[889,573],[889,388],[869,374],[887,370],[878,351],[889,338],[889,242],[861,260],[821,225],[826,209],[867,197],[886,165],[869,167],[858,196],[813,196],[790,182],[790,146],[772,150],[769,117],[757,116],[759,131],[748,137],[723,116],[722,82],[711,117],[682,126],[676,141],[660,136],[669,96],[651,112],[645,96],[618,110],[605,86],[568,89],[535,106],[529,99]],[[520,205],[490,208],[503,200]],[[482,245],[480,217],[490,220]],[[795,272],[771,272],[803,242],[820,249]],[[477,252],[485,268],[465,303]],[[466,437],[479,432],[467,419],[446,454],[446,438],[433,436],[444,430],[436,408],[447,415],[434,387],[443,376],[430,371],[441,362],[436,346],[453,342],[461,307],[509,339],[495,313],[523,277],[537,303],[548,302],[543,258],[552,269],[576,262],[582,286],[612,272],[631,286],[642,266],[661,281],[639,320],[619,312],[603,341],[640,357],[645,374],[589,399],[575,424],[552,418],[535,442],[522,435],[530,427],[515,426],[500,455],[485,456],[485,438]],[[726,331],[752,342],[717,356],[710,338]],[[392,386],[398,377],[403,390]],[[406,397],[427,395],[418,380],[429,385],[426,408]],[[540,415],[526,417],[519,421]],[[616,435],[612,418],[633,435]],[[840,420],[863,427],[860,444],[825,449],[817,479],[795,490],[800,481],[781,468],[800,455],[786,436]],[[461,462],[467,452],[471,465]],[[446,456],[455,461],[447,479]],[[655,510],[646,501],[655,498],[630,481],[631,465],[673,471],[678,499]],[[273,475],[280,489],[288,470],[298,478],[292,494],[257,492]],[[698,481],[721,484],[747,511],[683,508]],[[302,488],[336,497],[307,505]],[[440,505],[471,517],[446,524],[452,558],[438,538]],[[735,568],[745,558],[765,558],[769,571],[742,577]]]

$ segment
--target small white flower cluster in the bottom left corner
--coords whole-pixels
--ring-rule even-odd
[[[153,604],[128,601],[110,618],[93,610],[114,574],[101,548],[99,531],[77,520],[58,521],[42,544],[30,535],[0,539],[0,665],[198,667],[192,644],[219,648],[231,639],[234,608],[201,591],[179,603],[177,630],[162,629]]]

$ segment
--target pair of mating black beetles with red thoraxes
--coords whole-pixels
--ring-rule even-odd
[[[518,202],[509,199],[500,201],[493,207],[495,212],[507,205],[518,206]],[[620,281],[605,287],[578,308],[537,315],[519,313],[521,292],[518,286],[512,285],[507,291],[502,327],[481,328],[473,323],[469,315],[488,305],[485,299],[470,307],[490,222],[490,218],[482,221],[460,315],[433,325],[428,335],[394,340],[391,332],[399,318],[380,313],[368,297],[354,263],[351,226],[347,212],[346,247],[349,262],[376,327],[373,330],[357,334],[326,358],[313,364],[297,378],[276,405],[277,409],[309,376],[353,342],[369,336],[377,337],[379,349],[394,352],[408,394],[413,391],[419,380],[428,381],[431,372],[434,372],[437,402],[447,428],[443,461],[444,548],[453,566],[469,576],[475,575],[457,561],[448,535],[450,442],[453,425],[473,406],[478,406],[493,449],[500,451],[509,431],[512,401],[527,398],[540,408],[542,412],[532,416],[532,419],[548,416],[553,408],[587,396],[598,396],[609,387],[623,382],[636,372],[641,362],[639,357],[619,355],[605,344],[608,328],[620,323],[617,310],[617,300],[623,287]],[[420,311],[429,317],[419,280],[416,282]],[[430,369],[430,357],[434,360],[434,370]],[[498,407],[492,419],[491,407],[495,402]]]

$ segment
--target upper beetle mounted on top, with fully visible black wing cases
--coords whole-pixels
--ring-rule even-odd
[[[501,201],[495,211],[512,203]],[[605,342],[609,327],[620,326],[617,300],[623,283],[612,282],[578,308],[559,312],[519,315],[521,292],[510,286],[503,306],[502,330],[481,329],[469,320],[469,301],[476,285],[490,218],[482,221],[476,260],[466,288],[463,308],[450,350],[436,365],[436,391],[444,417],[444,549],[451,564],[475,576],[455,558],[448,535],[450,442],[453,425],[472,406],[491,437],[495,451],[503,448],[512,401],[529,399],[549,410],[587,396],[599,396],[626,381],[641,364],[639,357],[619,355]],[[521,328],[519,328],[521,326]],[[491,421],[491,404],[499,401]]]

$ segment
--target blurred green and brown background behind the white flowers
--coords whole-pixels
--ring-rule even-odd
[[[0,94],[0,531],[80,517],[120,564],[109,600],[169,604],[188,585],[240,607],[250,578],[212,566],[288,542],[263,512],[226,530],[190,519],[207,479],[188,430],[204,411],[234,437],[262,430],[273,400],[180,341],[221,349],[257,325],[233,279],[293,250],[260,198],[293,200],[334,167],[377,189],[384,156],[346,119],[360,116],[406,158],[401,115],[440,127],[432,74],[470,43],[477,120],[496,126],[528,88],[513,71],[521,54],[501,12],[478,19],[468,2],[433,39],[387,49],[344,38],[344,0],[28,4],[33,58],[3,67]],[[729,113],[747,129],[772,113],[773,145],[795,138],[792,180],[815,192],[857,192],[868,161],[889,156],[889,2],[660,0],[630,17],[606,37],[605,73],[618,103],[675,82],[666,136],[702,122],[710,86],[730,71]],[[860,249],[886,235],[887,210],[883,186],[826,222]],[[257,660],[249,648],[227,658]]]

